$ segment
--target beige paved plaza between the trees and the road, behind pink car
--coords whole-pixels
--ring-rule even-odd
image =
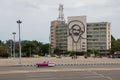
[[[17,65],[35,65],[39,61],[51,61],[55,64],[120,64],[119,58],[87,58],[80,56],[77,59],[71,57],[63,57],[61,59],[56,57],[39,57],[39,58],[19,58],[0,59],[0,66],[17,66]]]

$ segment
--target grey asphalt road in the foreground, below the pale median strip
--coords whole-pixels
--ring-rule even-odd
[[[116,75],[117,74],[117,75]],[[120,80],[120,71],[36,72],[0,75],[0,80]]]

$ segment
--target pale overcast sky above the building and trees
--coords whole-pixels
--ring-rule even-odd
[[[120,0],[0,0],[0,40],[19,38],[17,20],[21,20],[21,40],[48,43],[50,22],[58,18],[59,4],[64,17],[87,16],[87,22],[110,22],[111,33],[120,38]]]

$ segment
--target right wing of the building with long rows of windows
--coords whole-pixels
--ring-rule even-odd
[[[87,23],[87,49],[109,53],[111,49],[109,22]]]

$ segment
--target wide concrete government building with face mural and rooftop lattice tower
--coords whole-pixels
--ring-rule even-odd
[[[51,21],[50,52],[57,49],[61,53],[67,51],[87,52],[97,50],[109,53],[111,49],[111,31],[109,22],[87,23],[86,16],[70,16],[67,23],[64,19],[63,5],[59,6],[57,20]]]

